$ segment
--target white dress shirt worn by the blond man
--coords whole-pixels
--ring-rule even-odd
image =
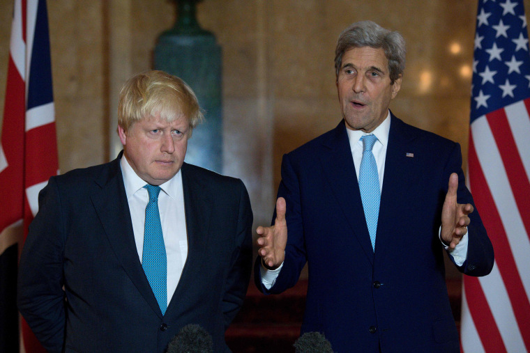
[[[144,253],[145,208],[149,202],[149,193],[144,186],[147,184],[140,178],[128,163],[125,156],[120,161],[123,183],[132,220],[132,231],[135,234],[138,257],[142,262]],[[188,235],[186,232],[184,194],[181,171],[160,185],[158,210],[162,223],[162,236],[167,258],[167,305],[173,297],[176,286],[181,279],[182,269],[188,257]]]

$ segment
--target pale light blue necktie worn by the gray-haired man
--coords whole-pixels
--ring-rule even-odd
[[[372,249],[375,251],[375,233],[377,232],[379,202],[381,201],[377,164],[372,153],[377,137],[365,135],[361,137],[361,141],[363,141],[363,159],[361,159],[361,168],[359,168],[359,189],[361,190],[361,200],[363,201],[368,233],[370,233],[370,240],[372,241]]]

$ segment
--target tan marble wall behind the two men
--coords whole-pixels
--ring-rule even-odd
[[[524,1],[527,10],[530,0]],[[169,29],[169,0],[48,0],[62,172],[119,150],[121,83],[151,68]],[[0,108],[13,1],[0,1]],[[204,29],[223,56],[225,174],[247,185],[255,224],[268,223],[281,156],[340,121],[333,56],[338,34],[372,19],[407,40],[407,68],[391,109],[407,123],[462,144],[464,164],[477,0],[203,0]],[[1,124],[1,123],[0,123]]]

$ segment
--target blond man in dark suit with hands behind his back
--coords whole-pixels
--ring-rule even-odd
[[[123,85],[114,161],[50,178],[22,250],[18,306],[50,352],[165,352],[187,324],[227,351],[252,263],[241,180],[184,162],[202,120],[161,71]]]

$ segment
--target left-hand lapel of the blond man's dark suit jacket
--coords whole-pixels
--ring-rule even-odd
[[[138,258],[135,236],[132,232],[129,205],[119,165],[122,154],[123,152],[120,153],[118,158],[109,163],[108,174],[100,175],[95,180],[96,187],[91,199],[109,243],[114,249],[114,253],[116,253],[116,257],[121,262],[123,269],[125,269],[132,283],[135,283],[139,292],[153,308],[153,311],[162,317],[162,311],[160,311],[158,302]]]

